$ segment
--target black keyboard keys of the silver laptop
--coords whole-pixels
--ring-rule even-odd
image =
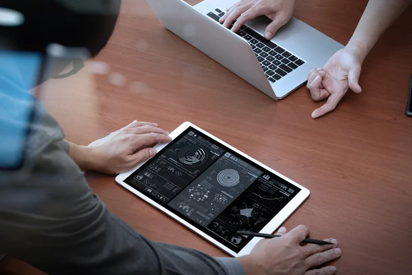
[[[222,10],[218,8],[215,11],[217,14],[209,12],[207,16],[219,22],[220,18],[225,15],[225,12],[222,12]],[[233,26],[233,24],[231,26]],[[287,74],[293,72],[294,69],[305,64],[305,61],[297,58],[295,55],[279,45],[276,45],[272,41],[266,40],[263,36],[258,34],[258,32],[255,32],[245,25],[242,25],[240,31],[236,34],[246,39],[251,45],[253,52],[255,52],[255,55],[262,66],[264,74],[266,74],[266,77],[271,83],[275,83]]]

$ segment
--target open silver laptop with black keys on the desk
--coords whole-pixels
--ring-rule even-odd
[[[277,100],[306,83],[310,69],[322,67],[343,45],[292,18],[271,41],[270,19],[248,21],[238,33],[219,23],[237,0],[205,0],[192,7],[183,0],[147,0],[171,32]]]

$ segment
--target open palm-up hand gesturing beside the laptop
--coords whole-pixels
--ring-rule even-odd
[[[336,52],[323,68],[312,69],[308,76],[308,89],[315,101],[328,101],[312,113],[312,118],[319,118],[336,108],[345,96],[347,89],[361,93],[359,77],[362,69],[361,56],[350,48],[345,47]]]

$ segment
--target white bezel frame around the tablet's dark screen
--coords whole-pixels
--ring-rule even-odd
[[[289,201],[289,203],[286,204],[286,206],[282,210],[280,210],[276,214],[276,216],[273,217],[273,219],[271,219],[271,221],[269,221],[264,226],[264,228],[262,228],[262,230],[260,230],[261,233],[271,234],[272,232],[274,232],[279,227],[279,225],[281,225],[290,216],[290,214],[292,214],[293,211],[295,211],[301,205],[301,203],[303,203],[304,200],[309,196],[310,191],[308,189],[306,189],[303,186],[297,184],[295,181],[293,181],[291,179],[288,179],[284,175],[282,175],[280,173],[277,173],[275,170],[273,170],[273,169],[269,168],[268,166],[258,162],[256,159],[253,159],[252,157],[249,157],[249,155],[246,155],[245,153],[242,153],[241,151],[234,148],[233,146],[230,146],[226,142],[223,142],[222,140],[218,139],[214,135],[211,135],[210,133],[207,133],[207,131],[204,131],[203,129],[200,129],[198,126],[196,126],[196,125],[194,125],[190,122],[184,122],[183,124],[181,124],[181,126],[179,126],[176,130],[174,130],[172,133],[170,133],[170,137],[172,137],[173,140],[174,140],[176,137],[181,135],[181,133],[186,131],[187,128],[189,128],[191,126],[194,129],[196,129],[197,131],[207,135],[208,137],[211,137],[213,140],[216,140],[216,142],[219,142],[220,144],[222,144],[224,146],[227,146],[227,148],[230,148],[231,150],[238,153],[239,155],[242,155],[242,157],[245,157],[245,158],[249,159],[251,162],[254,162],[258,166],[261,166],[262,168],[265,168],[266,170],[269,170],[271,173],[281,177],[282,179],[288,181],[290,184],[293,184],[294,186],[297,186],[301,189],[301,191],[291,201]],[[157,146],[155,146],[155,148],[157,149],[157,152],[159,152],[166,145],[168,145],[168,144],[157,144]],[[140,197],[144,201],[150,203],[152,206],[155,206],[155,208],[161,210],[165,214],[168,214],[168,216],[172,217],[174,220],[178,221],[179,223],[185,225],[187,228],[189,228],[190,230],[192,230],[196,234],[202,236],[207,241],[210,241],[211,243],[216,245],[221,250],[227,252],[227,254],[230,254],[231,256],[238,257],[238,256],[242,256],[242,255],[245,255],[245,254],[249,254],[251,252],[251,250],[255,247],[256,243],[258,243],[258,241],[260,241],[260,239],[262,239],[262,238],[258,238],[258,237],[255,237],[255,238],[251,239],[251,241],[249,241],[249,243],[247,245],[245,245],[244,248],[242,250],[240,250],[240,252],[237,253],[237,252],[234,252],[233,250],[227,248],[227,246],[224,245],[223,243],[220,243],[220,241],[214,239],[214,237],[212,235],[206,234],[205,232],[203,232],[201,230],[198,230],[198,228],[196,228],[194,225],[188,223],[184,219],[181,219],[181,217],[179,217],[178,215],[170,212],[170,210],[164,208],[159,203],[157,203],[157,202],[153,201],[152,199],[150,199],[150,197],[147,197],[142,192],[139,192],[139,190],[136,190],[135,188],[129,186],[128,184],[126,184],[124,182],[124,180],[128,176],[130,176],[133,172],[135,172],[135,170],[137,170],[137,168],[139,168],[143,164],[144,164],[144,162],[139,164],[135,168],[129,170],[128,172],[118,175],[116,177],[117,184],[123,186],[124,188],[126,188],[130,192],[133,192],[133,194],[137,195],[137,197]]]

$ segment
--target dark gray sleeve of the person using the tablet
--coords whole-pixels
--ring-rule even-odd
[[[0,171],[1,250],[50,274],[245,274],[236,259],[137,234],[89,188],[58,124],[41,121],[23,169]]]

